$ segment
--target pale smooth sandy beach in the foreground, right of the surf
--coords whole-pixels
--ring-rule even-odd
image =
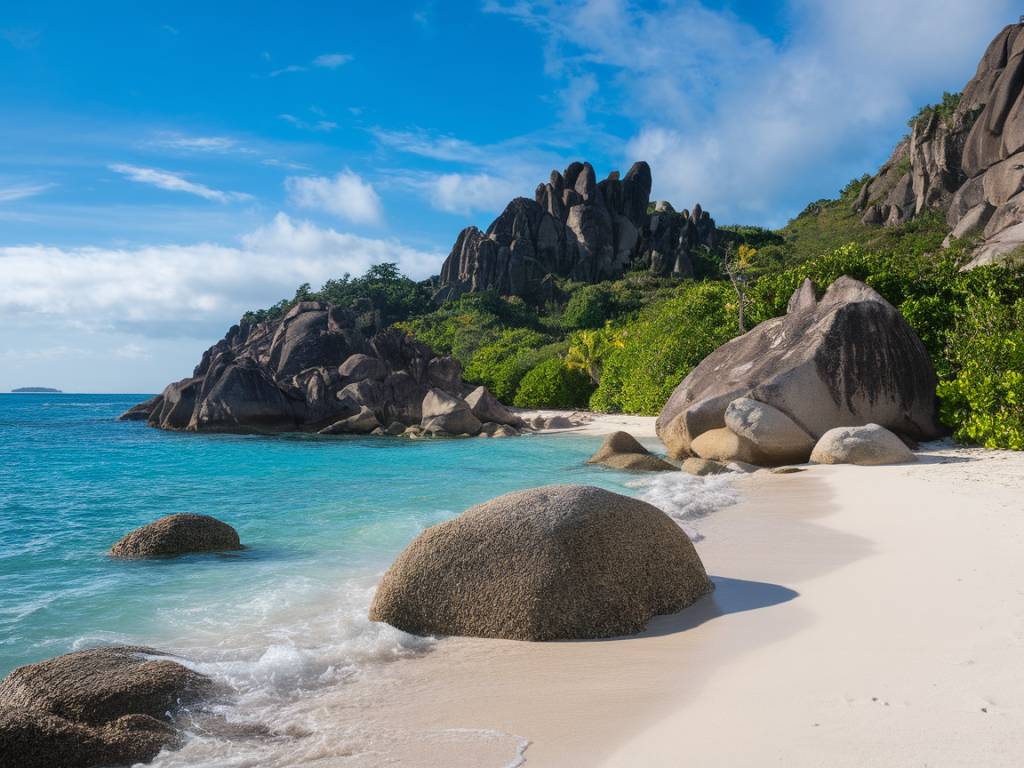
[[[716,592],[641,636],[385,666],[349,691],[381,764],[1024,764],[1024,455],[921,458],[737,480]]]

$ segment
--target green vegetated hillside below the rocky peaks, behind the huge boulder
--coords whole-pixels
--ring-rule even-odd
[[[471,293],[437,306],[430,282],[379,264],[319,291],[250,312],[280,316],[321,299],[360,313],[367,330],[396,326],[465,378],[523,408],[579,408],[655,415],[672,390],[718,346],[784,313],[805,278],[820,289],[848,274],[871,286],[916,331],[940,378],[941,414],[957,439],[1024,449],[1024,269],[962,271],[973,242],[943,249],[939,214],[899,226],[861,223],[854,212],[864,179],[835,200],[809,205],[778,230],[721,227],[723,242],[701,254],[699,279],[647,271],[586,285],[557,282],[543,305],[516,296]]]

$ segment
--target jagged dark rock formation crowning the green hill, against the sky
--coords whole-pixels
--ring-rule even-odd
[[[513,200],[485,232],[469,226],[459,233],[438,300],[477,291],[541,298],[549,275],[597,283],[636,267],[692,275],[691,254],[715,245],[715,221],[699,205],[676,213],[658,204],[648,213],[650,188],[644,162],[600,182],[590,163],[552,171],[534,200]]]

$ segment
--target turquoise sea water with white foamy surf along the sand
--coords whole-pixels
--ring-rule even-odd
[[[225,722],[278,734],[197,732],[157,765],[376,765],[359,761],[352,734],[307,736],[327,728],[325,702],[343,702],[347,682],[430,652],[436,641],[373,624],[367,608],[394,556],[467,507],[590,483],[650,501],[698,539],[701,516],[732,500],[722,478],[590,467],[598,437],[195,435],[115,420],[143,397],[0,395],[0,676],[92,645],[153,645],[225,683]],[[128,530],[175,512],[225,520],[247,549],[106,556]],[[509,749],[514,764],[521,744]]]

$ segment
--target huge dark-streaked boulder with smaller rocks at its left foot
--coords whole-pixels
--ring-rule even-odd
[[[671,456],[783,464],[806,461],[804,435],[816,440],[839,426],[882,424],[915,439],[941,434],[935,371],[899,311],[851,278],[820,301],[814,296],[808,282],[785,315],[723,344],[690,372],[656,422]]]

